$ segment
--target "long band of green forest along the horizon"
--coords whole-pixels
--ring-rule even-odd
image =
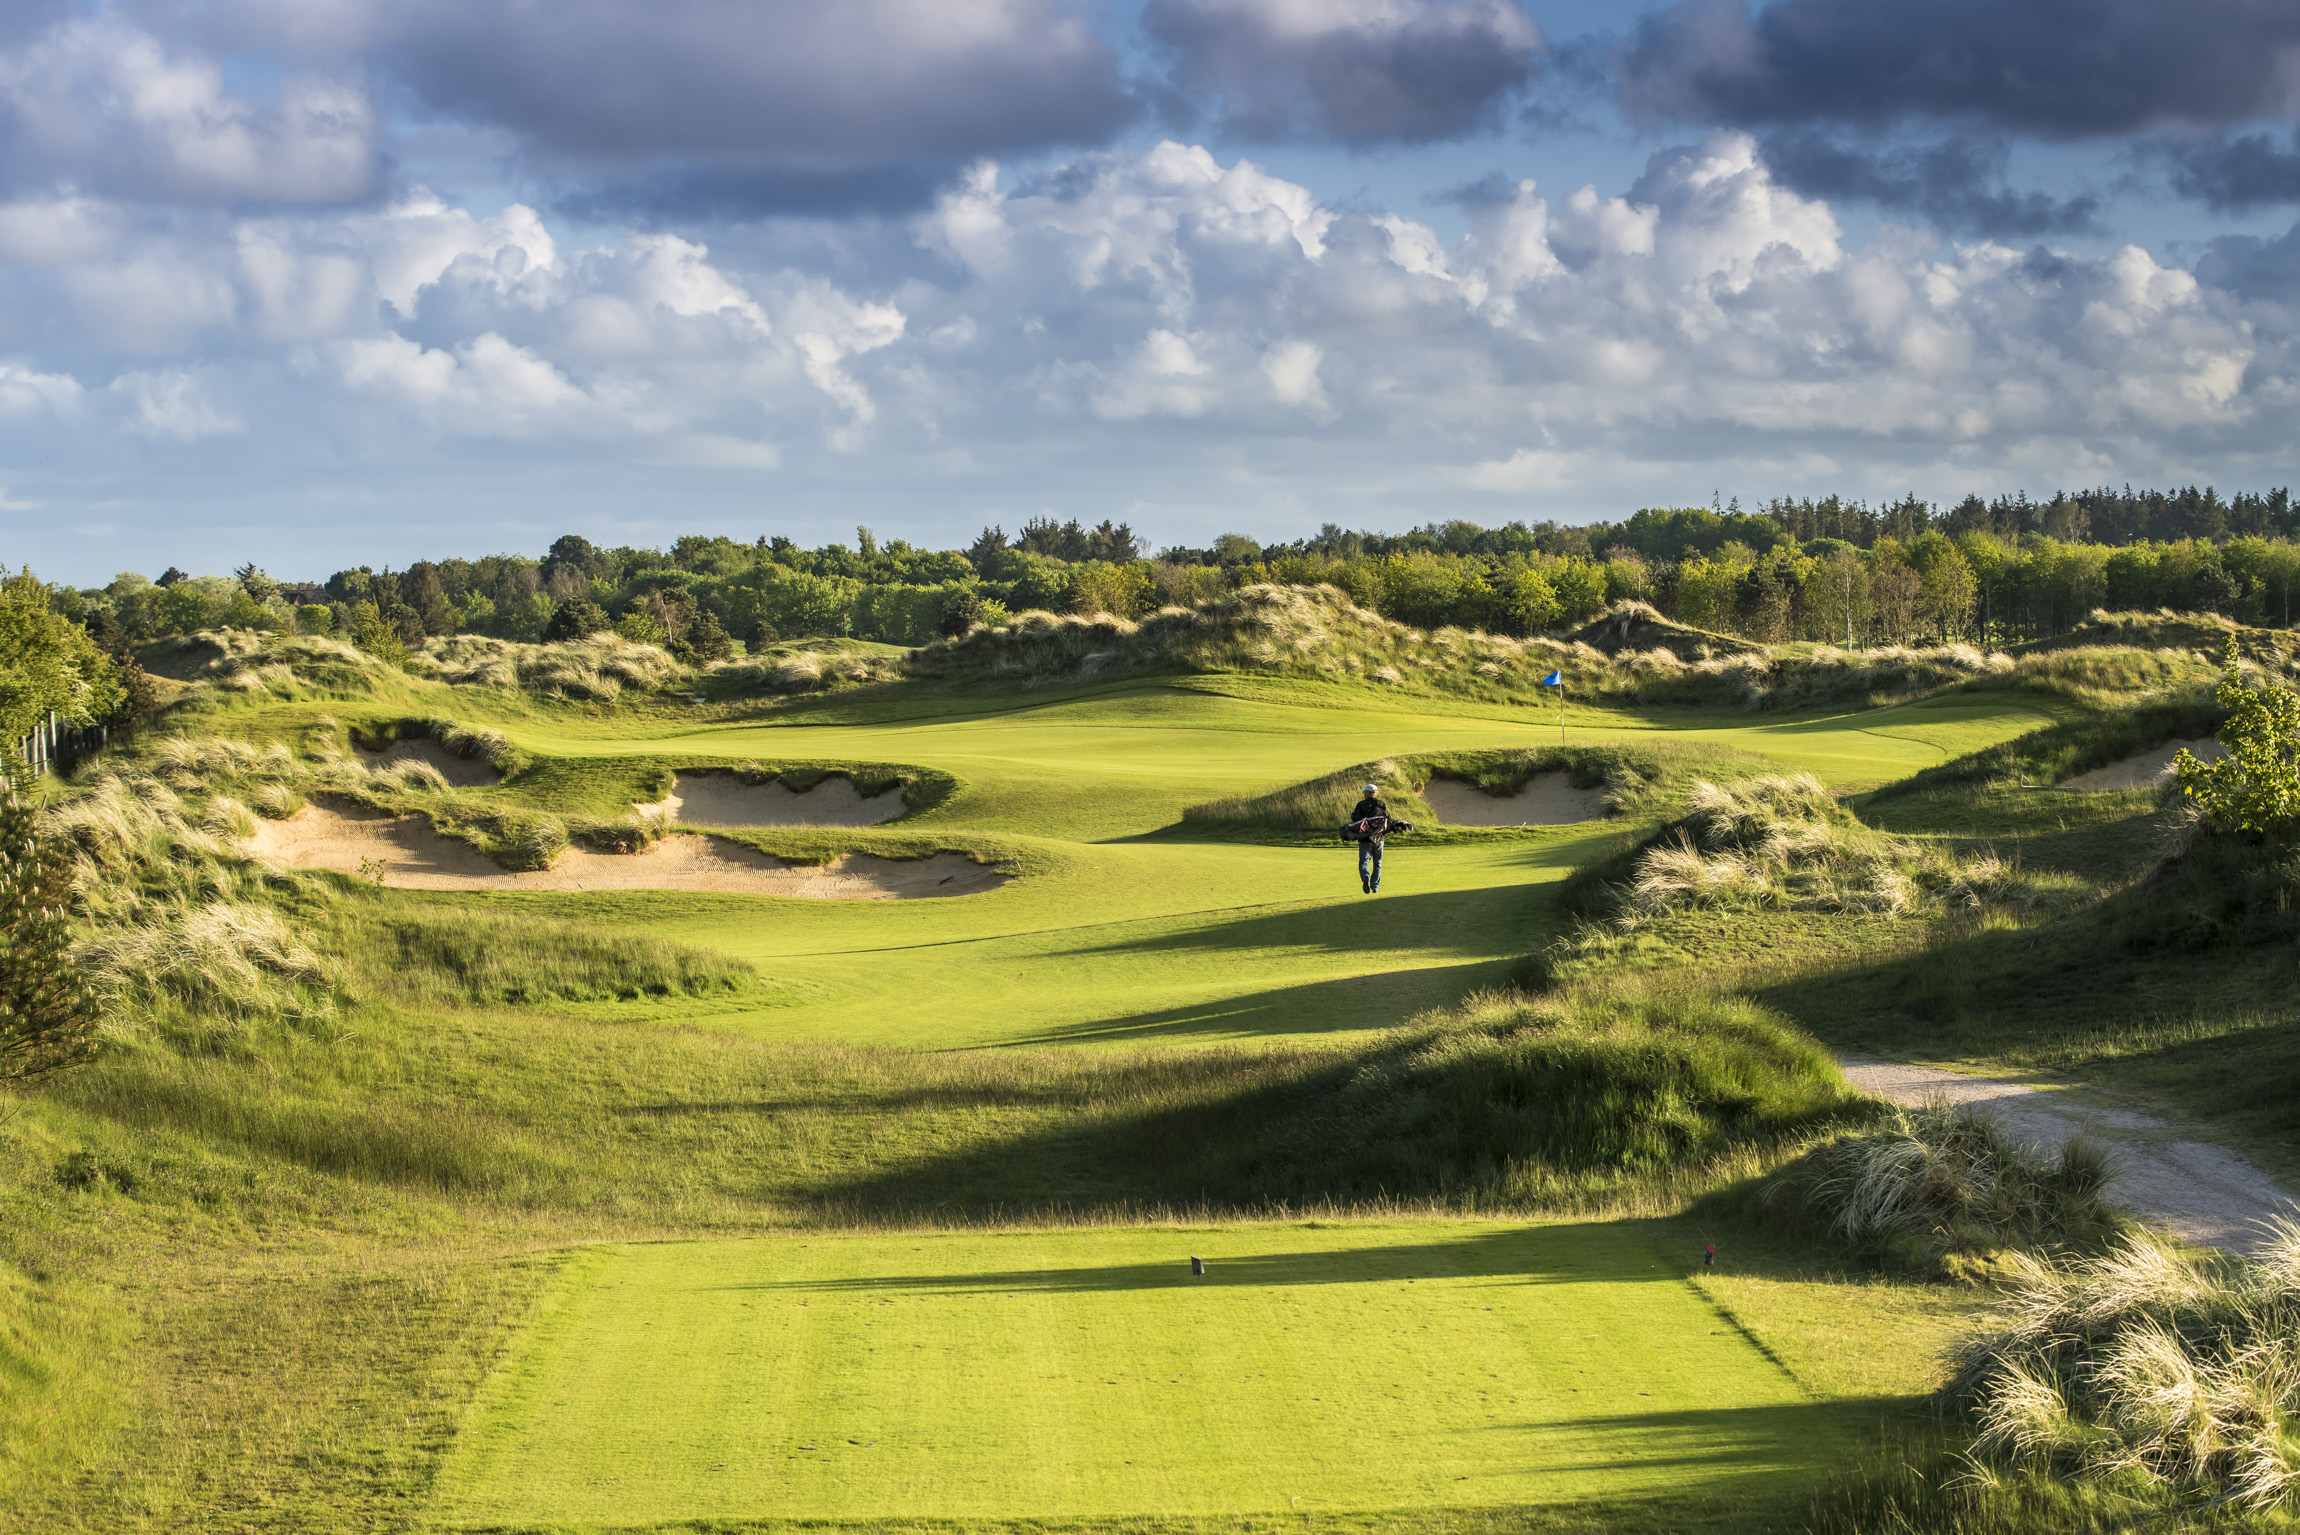
[[[120,654],[177,633],[255,628],[338,635],[382,656],[430,635],[566,640],[616,631],[688,663],[793,637],[925,644],[1017,612],[1136,619],[1237,587],[1334,585],[1424,628],[1529,635],[1624,598],[1695,628],[1778,644],[1976,642],[2065,633],[2095,608],[2222,612],[2288,628],[2300,509],[2288,490],[2058,492],[1934,506],[1773,499],[1644,509],[1619,522],[1431,522],[1405,534],[1325,525],[1293,543],[1224,534],[1150,555],[1132,527],[1035,518],[987,527],[964,550],[922,550],[869,527],[853,545],[685,536],[669,550],[568,534],[540,557],[419,559],[283,580],[124,573],[53,587],[55,612]]]

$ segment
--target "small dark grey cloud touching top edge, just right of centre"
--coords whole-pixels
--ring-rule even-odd
[[[1242,140],[1438,143],[1500,122],[1541,32],[1511,0],[1150,0],[1168,106]]]

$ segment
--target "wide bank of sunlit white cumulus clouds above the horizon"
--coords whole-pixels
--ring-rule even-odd
[[[899,244],[860,226],[582,244],[529,207],[428,193],[189,219],[0,278],[9,311],[193,295],[126,331],[205,327],[172,361],[23,343],[0,442],[97,465],[228,435],[258,476],[327,444],[329,483],[359,486],[485,451],[580,465],[552,495],[610,506],[706,483],[667,476],[770,474],[777,506],[821,495],[839,522],[867,465],[888,527],[913,504],[920,536],[950,536],[931,520],[961,504],[1012,522],[1014,486],[1026,511],[1235,522],[1281,499],[1316,520],[1433,497],[1617,513],[1635,499],[1605,497],[1684,495],[1626,488],[1670,465],[1704,497],[1736,463],[2226,481],[2300,426],[2295,237],[2224,242],[2201,274],[2139,249],[1854,244],[1743,131],[1658,152],[1615,196],[1516,180],[1463,203],[1447,237],[1166,143],[1021,180],[975,166]],[[83,292],[97,278],[113,288]]]

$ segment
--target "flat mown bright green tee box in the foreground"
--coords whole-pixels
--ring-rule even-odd
[[[483,1390],[435,1517],[1686,1503],[1847,1454],[1845,1413],[1679,1263],[1640,1224],[1500,1222],[591,1250]]]

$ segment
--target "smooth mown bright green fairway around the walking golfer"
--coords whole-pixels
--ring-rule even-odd
[[[1438,711],[1451,709],[1451,711]],[[2017,695],[1950,695],[1812,718],[1681,720],[1575,711],[1575,743],[1725,746],[1833,785],[1904,778],[2049,723]],[[1201,679],[1026,700],[929,700],[642,730],[513,720],[557,757],[902,762],[957,776],[888,833],[996,838],[1028,872],[961,900],[513,895],[570,921],[644,927],[757,964],[780,987],[660,1015],[775,1040],[904,1049],[1348,1038],[1500,985],[1550,937],[1548,886],[1598,856],[1605,824],[1389,849],[1380,902],[1355,851],[1196,840],[1182,810],[1426,750],[1546,746],[1555,713],[1385,700],[1362,688]],[[872,847],[856,831],[853,847]],[[628,1010],[626,1010],[628,1015]]]

